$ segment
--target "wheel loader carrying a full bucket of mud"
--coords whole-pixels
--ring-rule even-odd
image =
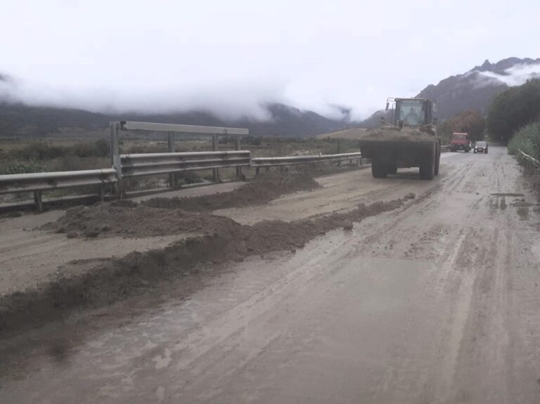
[[[359,138],[362,157],[371,159],[373,177],[385,178],[399,168],[410,167],[418,167],[422,179],[437,176],[441,141],[435,131],[435,102],[428,98],[388,98],[386,110],[391,122],[382,117],[382,127],[368,129]]]

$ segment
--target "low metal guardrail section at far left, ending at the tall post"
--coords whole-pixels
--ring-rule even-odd
[[[0,195],[33,192],[37,209],[42,211],[41,192],[44,190],[98,185],[98,195],[100,200],[103,200],[104,186],[117,181],[115,169],[8,174],[0,176]]]

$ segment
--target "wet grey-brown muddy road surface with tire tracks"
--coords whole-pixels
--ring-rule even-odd
[[[189,296],[172,284],[1,341],[0,402],[539,403],[540,216],[489,150],[446,153],[435,181],[352,171],[217,212],[287,220],[416,193]]]

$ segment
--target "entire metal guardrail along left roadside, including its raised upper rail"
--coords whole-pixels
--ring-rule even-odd
[[[169,152],[120,154],[119,131],[163,131],[167,132]],[[174,133],[200,133],[212,135],[212,149],[208,152],[175,152]],[[0,195],[8,193],[33,192],[37,209],[43,210],[41,192],[58,188],[75,188],[89,185],[98,187],[100,200],[105,197],[105,185],[114,185],[116,194],[121,193],[122,178],[169,174],[169,183],[176,186],[175,173],[212,169],[214,182],[219,181],[218,169],[236,167],[237,178],[243,178],[242,167],[255,167],[257,174],[260,167],[276,167],[295,164],[313,164],[320,162],[342,162],[360,160],[361,153],[342,153],[336,155],[309,155],[290,157],[251,158],[249,150],[240,150],[240,136],[249,134],[248,129],[224,128],[217,126],[193,126],[181,124],[160,124],[153,122],[111,122],[110,157],[111,169],[84,171],[56,171],[33,174],[11,174],[0,176]],[[218,136],[235,137],[235,149],[217,151]],[[339,150],[339,143],[338,143]]]

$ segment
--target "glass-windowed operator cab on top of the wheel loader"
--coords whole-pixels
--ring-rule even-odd
[[[434,103],[427,98],[389,98],[392,103],[392,124],[396,126],[425,126],[434,124]]]

